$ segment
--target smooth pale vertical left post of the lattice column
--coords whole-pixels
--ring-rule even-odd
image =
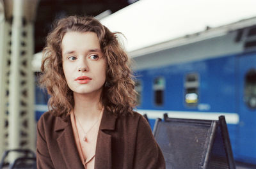
[[[20,82],[24,75],[20,71],[21,54],[21,30],[22,30],[22,9],[23,1],[13,1],[13,22],[12,22],[12,56],[10,73],[10,98],[9,98],[9,148],[20,147],[20,109],[24,103],[20,100]]]

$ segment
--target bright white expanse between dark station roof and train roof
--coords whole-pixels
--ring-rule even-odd
[[[255,0],[140,0],[100,20],[128,52],[256,16]]]

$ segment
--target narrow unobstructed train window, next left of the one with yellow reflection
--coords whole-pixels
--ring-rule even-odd
[[[154,80],[154,102],[157,106],[163,105],[165,79],[163,77],[157,77]]]

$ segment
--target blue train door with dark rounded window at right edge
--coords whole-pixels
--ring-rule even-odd
[[[239,157],[256,163],[256,54],[237,57],[237,110],[239,113]]]

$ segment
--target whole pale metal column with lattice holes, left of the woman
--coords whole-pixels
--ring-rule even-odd
[[[8,149],[35,152],[35,79],[32,71],[34,18],[38,1],[13,0]],[[33,12],[31,12],[33,11]],[[12,155],[10,161],[16,158]]]

